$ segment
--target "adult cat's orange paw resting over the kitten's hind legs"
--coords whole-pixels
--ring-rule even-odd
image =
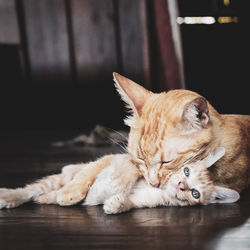
[[[57,203],[61,206],[71,206],[82,201],[88,192],[89,187],[77,185],[66,186],[57,191]]]

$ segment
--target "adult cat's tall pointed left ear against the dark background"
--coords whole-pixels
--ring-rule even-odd
[[[121,95],[122,100],[129,105],[129,108],[140,116],[142,107],[150,91],[118,73],[114,72],[113,76],[115,86]]]

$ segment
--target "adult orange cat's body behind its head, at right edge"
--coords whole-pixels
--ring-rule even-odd
[[[250,184],[250,116],[219,115],[214,127],[211,144],[227,153],[211,168],[212,179],[240,192]]]

